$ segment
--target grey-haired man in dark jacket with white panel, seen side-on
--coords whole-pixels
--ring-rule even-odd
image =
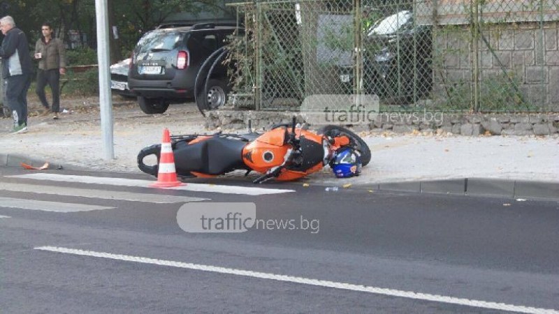
[[[31,57],[27,36],[15,27],[10,16],[0,19],[0,29],[6,36],[0,47],[3,79],[6,80],[6,100],[12,110],[12,134],[27,132],[27,91],[31,84]]]

